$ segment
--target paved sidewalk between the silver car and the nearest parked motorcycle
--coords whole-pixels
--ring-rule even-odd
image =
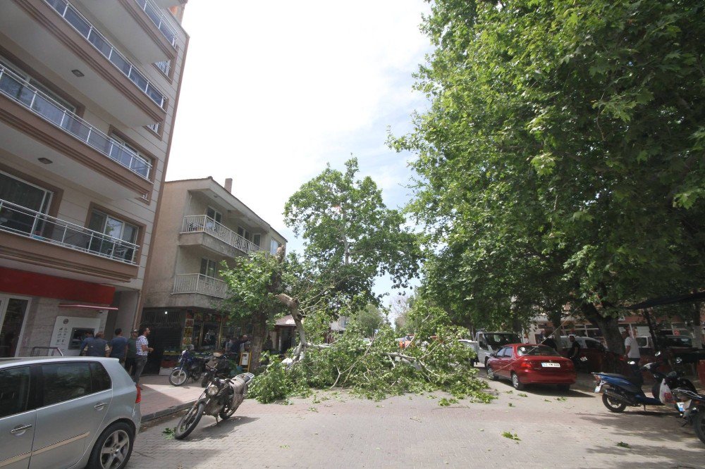
[[[168,376],[147,375],[142,387],[142,423],[188,408],[203,392],[201,382],[188,380],[183,386],[169,384]]]

